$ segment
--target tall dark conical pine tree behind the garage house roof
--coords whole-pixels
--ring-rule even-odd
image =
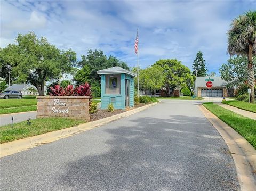
[[[195,76],[207,76],[208,70],[206,69],[205,60],[201,51],[198,51],[196,54],[192,69]]]

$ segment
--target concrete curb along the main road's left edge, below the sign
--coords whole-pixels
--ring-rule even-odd
[[[87,122],[83,124],[79,124],[78,126],[69,127],[66,129],[61,129],[58,131],[47,132],[46,134],[36,135],[33,137],[28,137],[24,139],[14,140],[13,142],[0,144],[0,158],[4,156],[8,156],[14,153],[18,153],[28,148],[33,148],[38,145],[42,145],[45,143],[51,143],[55,140],[59,140],[65,137],[73,136],[83,131],[87,131],[96,127],[101,126],[102,124],[109,123],[119,118],[127,117],[134,113],[138,113],[142,110],[147,109],[150,106],[156,105],[157,102],[151,103],[149,105],[145,105],[136,109],[132,109],[123,113],[119,113],[117,115],[113,115],[107,118],[99,119],[97,121]]]

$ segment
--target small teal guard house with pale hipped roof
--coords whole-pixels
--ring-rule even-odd
[[[101,76],[101,109],[113,103],[115,109],[134,106],[134,77],[137,74],[121,67],[97,71]]]

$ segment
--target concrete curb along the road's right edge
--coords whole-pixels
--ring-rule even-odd
[[[217,116],[207,110],[203,105],[198,105],[205,117],[212,123],[226,142],[233,157],[238,181],[242,191],[254,191],[256,188],[256,150],[238,134],[233,128],[221,121]]]

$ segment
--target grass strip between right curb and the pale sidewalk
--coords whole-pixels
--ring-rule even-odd
[[[227,110],[212,102],[203,103],[214,115],[227,123],[256,148],[256,121]]]

